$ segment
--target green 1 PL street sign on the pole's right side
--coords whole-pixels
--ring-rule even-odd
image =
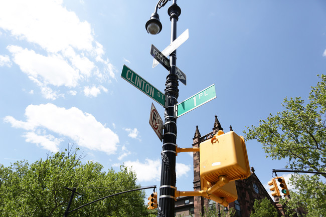
[[[195,94],[177,105],[177,117],[194,110],[195,108],[216,98],[215,84]]]

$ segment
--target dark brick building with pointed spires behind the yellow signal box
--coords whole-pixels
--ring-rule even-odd
[[[193,138],[193,147],[199,147],[199,144],[207,139],[210,139],[219,130],[223,130],[220,122],[215,116],[213,131],[201,136],[198,126],[196,127],[195,136]],[[230,131],[232,127],[230,126]],[[200,159],[199,152],[194,152],[194,190],[201,190],[200,182]],[[280,204],[276,204],[269,196],[268,192],[260,182],[256,174],[254,173],[253,167],[251,167],[251,175],[247,179],[236,180],[236,188],[238,199],[234,202],[229,203],[228,209],[233,207],[236,210],[236,216],[249,217],[255,199],[268,198],[271,203],[277,208],[280,215],[283,215],[283,208]],[[278,197],[275,198],[276,201]],[[175,203],[176,216],[194,216],[199,217],[205,210],[215,206],[218,209],[218,204],[215,201],[207,199],[202,196],[185,196],[177,198]],[[221,212],[223,212],[224,206],[221,205]]]

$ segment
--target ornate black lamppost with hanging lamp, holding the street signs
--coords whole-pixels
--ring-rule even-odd
[[[147,21],[145,28],[149,34],[156,35],[162,25],[159,22],[157,9],[165,6],[169,0],[159,0],[154,13]],[[177,21],[181,14],[181,9],[177,5],[177,0],[173,0],[172,6],[168,10],[171,20],[171,43],[177,39]],[[159,187],[159,207],[158,215],[161,217],[175,216],[175,190],[176,190],[176,147],[177,147],[177,117],[174,114],[174,107],[177,104],[179,89],[178,76],[176,75],[177,54],[174,51],[170,54],[170,70],[167,76],[165,95],[165,122],[162,145],[161,178]]]

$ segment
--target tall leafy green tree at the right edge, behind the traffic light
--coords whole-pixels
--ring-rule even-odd
[[[287,159],[286,167],[326,171],[326,76],[311,87],[308,103],[300,97],[284,99],[284,110],[260,120],[259,126],[247,127],[246,139],[256,139],[263,145],[266,157]],[[291,177],[298,191],[290,192],[288,210],[301,206],[306,216],[326,216],[326,175]],[[318,211],[318,215],[314,215]]]

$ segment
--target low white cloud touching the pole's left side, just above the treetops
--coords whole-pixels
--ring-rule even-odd
[[[150,160],[146,158],[144,163],[139,162],[139,160],[126,161],[124,165],[135,171],[138,181],[159,181],[161,167],[161,160],[159,159]],[[148,171],[150,171],[150,175],[148,175]]]

